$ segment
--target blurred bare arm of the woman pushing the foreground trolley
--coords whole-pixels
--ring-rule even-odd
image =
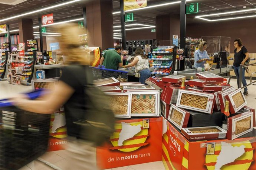
[[[44,96],[43,100],[29,100],[24,99],[24,96],[13,98],[13,104],[19,108],[42,114],[51,114],[55,110],[58,110],[60,105],[63,105],[75,90],[68,84],[59,81],[58,85],[55,86],[55,90],[52,93]]]

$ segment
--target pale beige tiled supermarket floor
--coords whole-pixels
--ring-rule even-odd
[[[232,79],[230,84],[237,87],[236,79]],[[0,81],[0,88],[0,99],[16,96],[19,92],[31,91],[31,86],[11,85],[7,81]],[[256,109],[256,86],[250,85],[248,87],[248,92],[249,96],[246,96],[248,102],[247,106]],[[40,158],[53,164],[59,169],[62,169],[63,167],[65,167],[65,164],[68,163],[69,156],[66,154],[65,150],[60,150],[56,152],[47,152]],[[53,170],[53,168],[47,166],[45,163],[35,160],[27,164],[27,166],[24,166],[20,170]],[[132,166],[118,167],[113,168],[112,170],[164,170],[164,165],[161,161],[159,161],[152,163],[137,164]]]

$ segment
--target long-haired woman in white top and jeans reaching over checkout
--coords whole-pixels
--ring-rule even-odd
[[[148,69],[148,57],[144,54],[144,51],[141,48],[136,49],[134,60],[123,67],[128,68],[132,66],[135,66],[135,72],[140,72],[141,74],[139,82],[145,84],[145,80],[150,78],[151,72]]]

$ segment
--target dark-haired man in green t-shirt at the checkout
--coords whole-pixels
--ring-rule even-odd
[[[108,69],[116,69],[123,66],[123,59],[120,56],[122,47],[116,45],[115,50],[106,51],[101,57],[101,65],[104,65]]]

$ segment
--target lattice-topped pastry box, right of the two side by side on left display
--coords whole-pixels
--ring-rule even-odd
[[[132,107],[131,116],[159,116],[160,95],[159,92],[131,92]]]

